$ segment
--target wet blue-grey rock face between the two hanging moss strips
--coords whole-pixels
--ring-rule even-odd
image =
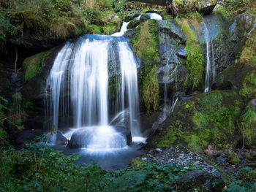
[[[173,20],[157,20],[157,24],[160,60],[157,75],[160,88],[168,83],[170,88],[168,92],[183,91],[187,76],[187,69],[184,66],[186,64],[185,45],[187,39]]]

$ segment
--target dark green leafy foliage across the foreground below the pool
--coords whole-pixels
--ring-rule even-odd
[[[141,163],[106,172],[96,165],[75,164],[77,155],[33,143],[22,150],[1,147],[0,154],[0,191],[181,191],[179,178],[200,169]]]

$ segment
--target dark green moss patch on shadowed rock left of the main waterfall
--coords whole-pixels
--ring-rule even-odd
[[[45,57],[50,54],[49,51],[45,51],[42,53],[38,53],[37,55],[33,55],[29,58],[26,58],[23,61],[23,67],[25,68],[25,80],[31,80],[45,65]]]

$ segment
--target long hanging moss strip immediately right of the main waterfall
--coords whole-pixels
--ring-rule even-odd
[[[137,29],[137,36],[132,39],[135,52],[142,59],[145,66],[140,73],[140,83],[142,84],[143,100],[148,114],[155,112],[159,105],[157,32],[156,20],[146,20],[143,26]]]

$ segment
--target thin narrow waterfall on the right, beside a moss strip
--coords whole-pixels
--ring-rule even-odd
[[[203,21],[203,35],[206,40],[206,82],[205,93],[211,91],[211,84],[215,80],[214,43],[210,38],[206,23]]]

